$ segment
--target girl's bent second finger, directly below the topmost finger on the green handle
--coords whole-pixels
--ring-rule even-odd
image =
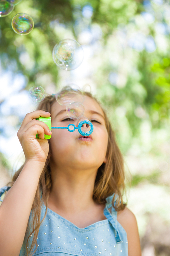
[[[44,133],[46,135],[51,135],[52,132],[49,130],[49,127],[46,123],[33,119],[31,122],[27,123],[27,125],[24,126],[22,130],[18,131],[18,138],[20,139],[23,133],[26,133],[34,125],[41,126],[44,129]],[[32,130],[29,130],[29,131],[32,132]],[[36,134],[29,134],[29,135],[36,135]]]

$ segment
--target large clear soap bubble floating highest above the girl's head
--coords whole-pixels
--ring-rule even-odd
[[[81,45],[73,39],[63,39],[53,48],[55,64],[64,70],[76,69],[83,61],[84,53]]]

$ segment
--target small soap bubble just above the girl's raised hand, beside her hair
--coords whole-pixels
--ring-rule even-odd
[[[41,86],[31,87],[28,94],[30,99],[34,102],[43,101],[46,95],[44,88]]]

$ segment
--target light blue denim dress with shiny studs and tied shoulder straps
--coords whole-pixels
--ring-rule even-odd
[[[8,187],[3,187],[0,190],[0,197],[7,189]],[[126,231],[117,221],[117,211],[112,207],[112,198],[113,195],[106,198],[104,215],[107,219],[86,228],[75,226],[48,208],[46,218],[39,229],[38,247],[34,256],[128,256]],[[45,211],[46,207],[43,205],[41,219]],[[31,241],[32,238],[33,236],[30,237]],[[27,236],[19,256],[27,255],[26,243]]]

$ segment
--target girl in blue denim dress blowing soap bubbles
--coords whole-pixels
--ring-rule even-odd
[[[68,118],[54,96],[24,118],[18,138],[26,161],[0,194],[8,190],[0,206],[1,256],[141,256],[135,216],[122,200],[123,157],[104,109],[84,94],[94,126],[88,137],[78,130],[51,133],[36,120],[51,116],[52,126],[82,121]]]

